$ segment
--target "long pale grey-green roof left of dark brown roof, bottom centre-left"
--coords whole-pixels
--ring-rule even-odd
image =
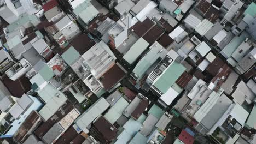
[[[109,103],[103,97],[98,99],[94,105],[90,106],[88,110],[86,110],[78,119],[77,125],[80,129],[82,129],[85,133],[89,133],[89,130],[86,128],[89,124],[91,124],[94,119],[100,116],[105,110],[108,109]]]

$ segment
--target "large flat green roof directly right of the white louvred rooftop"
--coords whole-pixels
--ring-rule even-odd
[[[182,64],[174,61],[153,85],[162,93],[166,93],[185,69]]]

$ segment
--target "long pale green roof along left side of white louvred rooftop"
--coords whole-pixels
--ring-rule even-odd
[[[138,62],[136,67],[133,69],[133,73],[138,76],[140,79],[148,68],[158,59],[166,55],[167,51],[162,47],[158,42],[155,42],[152,46],[149,47],[149,52],[144,55],[141,61]],[[162,50],[162,51],[160,51]]]

